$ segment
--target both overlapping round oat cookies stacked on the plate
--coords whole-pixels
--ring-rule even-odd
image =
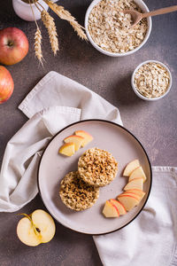
[[[110,184],[117,172],[118,162],[111,153],[91,148],[81,155],[78,171],[68,173],[61,181],[61,200],[75,211],[92,207],[99,197],[99,187]]]

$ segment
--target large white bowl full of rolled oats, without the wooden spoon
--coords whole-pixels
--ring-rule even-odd
[[[123,57],[138,51],[148,41],[151,18],[131,27],[131,15],[124,10],[149,12],[142,0],[94,0],[86,12],[89,42],[107,56]]]

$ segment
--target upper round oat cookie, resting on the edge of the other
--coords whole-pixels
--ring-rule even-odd
[[[95,186],[110,184],[118,172],[118,162],[107,151],[91,148],[83,153],[78,162],[81,179]]]

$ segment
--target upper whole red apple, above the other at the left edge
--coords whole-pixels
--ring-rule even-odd
[[[17,27],[0,30],[0,63],[10,66],[19,63],[27,55],[27,36]]]

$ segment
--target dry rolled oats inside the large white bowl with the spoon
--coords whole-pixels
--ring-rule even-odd
[[[89,34],[105,51],[125,53],[142,43],[147,33],[147,20],[130,28],[131,15],[122,12],[126,9],[142,12],[133,0],[102,0],[90,12]]]

